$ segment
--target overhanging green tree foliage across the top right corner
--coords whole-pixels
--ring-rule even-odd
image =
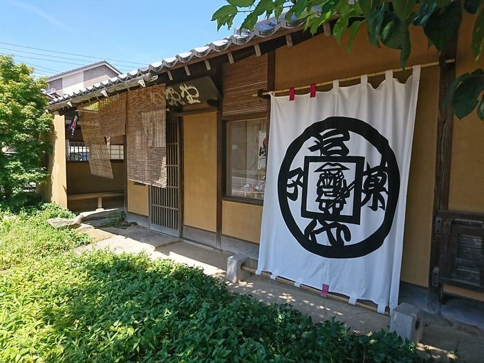
[[[335,20],[333,35],[338,44],[348,31],[348,51],[357,32],[366,24],[373,46],[400,50],[400,66],[405,66],[411,52],[409,28],[420,26],[438,52],[454,41],[463,12],[472,15],[474,31],[471,50],[477,60],[481,56],[484,37],[484,0],[227,0],[212,20],[221,26],[232,26],[234,18],[245,13],[241,28],[252,30],[259,17],[280,17],[304,20],[304,29],[313,34],[331,19]],[[476,107],[484,119],[484,71],[482,68],[456,78],[447,97],[458,118],[469,115]]]

